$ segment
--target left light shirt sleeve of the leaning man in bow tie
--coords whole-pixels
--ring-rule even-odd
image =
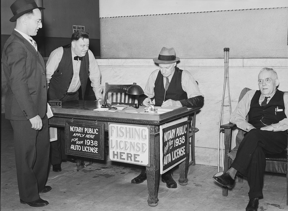
[[[56,71],[63,56],[63,47],[59,47],[51,52],[49,59],[46,63],[46,83],[49,84],[52,75]]]

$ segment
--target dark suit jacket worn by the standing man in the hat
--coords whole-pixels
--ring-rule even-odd
[[[2,52],[8,91],[5,117],[29,120],[47,111],[45,64],[40,53],[17,31],[13,30]]]

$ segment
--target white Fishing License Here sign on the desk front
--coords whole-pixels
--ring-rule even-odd
[[[150,166],[149,126],[108,124],[109,160]]]

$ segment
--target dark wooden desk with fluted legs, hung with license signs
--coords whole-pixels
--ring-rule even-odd
[[[137,112],[143,111],[143,106],[140,106]],[[150,150],[150,167],[146,167],[147,184],[148,184],[148,205],[158,205],[158,184],[160,176],[159,163],[159,126],[182,117],[189,117],[192,120],[192,125],[195,126],[195,115],[200,108],[187,109],[186,107],[178,108],[173,111],[162,113],[159,115],[151,115],[146,113],[124,113],[121,111],[107,112],[94,111],[94,101],[68,101],[64,102],[62,108],[52,107],[54,116],[49,119],[50,126],[64,127],[65,120],[77,120],[83,122],[98,122],[104,124],[104,130],[108,131],[108,122],[127,123],[148,125],[150,131],[149,150]],[[193,118],[192,118],[193,117]],[[193,137],[194,138],[194,137]],[[188,148],[188,147],[187,147]],[[189,149],[189,148],[188,148]],[[189,150],[186,151],[186,160],[179,164],[180,185],[187,185],[187,170],[189,162]],[[132,178],[131,178],[132,179]]]

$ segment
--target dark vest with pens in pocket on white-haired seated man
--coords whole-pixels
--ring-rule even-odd
[[[251,100],[250,110],[248,112],[248,122],[250,124],[259,129],[266,125],[278,123],[286,118],[283,91],[277,89],[276,93],[265,107],[259,105],[260,95],[260,90],[257,90]],[[281,109],[282,111],[279,111]]]

